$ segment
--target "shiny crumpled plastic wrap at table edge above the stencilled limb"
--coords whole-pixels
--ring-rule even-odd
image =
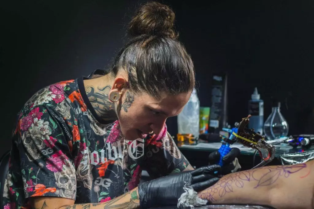
[[[282,165],[306,163],[312,159],[314,159],[314,150],[280,155],[280,161]]]

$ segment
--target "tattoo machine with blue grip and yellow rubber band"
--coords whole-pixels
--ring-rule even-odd
[[[231,130],[223,129],[224,131],[231,132],[231,136],[229,138],[220,136],[225,144],[221,145],[218,152],[220,153],[219,165],[222,166],[222,158],[228,154],[231,150],[230,145],[238,142],[245,147],[250,147],[256,149],[259,152],[260,157],[263,159],[261,163],[256,165],[254,168],[262,167],[267,163],[271,162],[275,157],[276,147],[267,143],[265,138],[260,135],[260,132],[255,132],[254,129],[247,128],[247,124],[250,121],[251,115],[248,115],[245,118],[242,118],[240,123],[236,122],[235,127]],[[266,150],[267,155],[263,155],[262,151]]]

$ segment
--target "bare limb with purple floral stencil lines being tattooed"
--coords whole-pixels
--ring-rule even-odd
[[[275,208],[312,208],[313,162],[267,166],[228,174],[199,193],[214,204],[260,204]]]

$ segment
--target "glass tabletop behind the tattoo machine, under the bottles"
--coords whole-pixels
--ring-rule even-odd
[[[191,150],[191,151],[208,151],[208,152],[213,152],[219,149],[221,146],[221,142],[210,142],[210,143],[198,143],[196,145],[187,145],[187,144],[178,144],[179,149],[182,150]],[[298,148],[293,148],[289,144],[282,143],[280,145],[274,145],[276,147],[276,153],[275,156],[279,157],[281,155],[285,154],[291,154],[291,153],[300,153],[300,152],[305,152],[305,151],[310,151],[314,150],[314,146],[311,146],[308,149],[302,149],[300,147]],[[239,143],[234,143],[230,145],[230,147],[237,147],[241,150],[241,154],[244,155],[254,155],[255,149],[245,147],[242,144]]]

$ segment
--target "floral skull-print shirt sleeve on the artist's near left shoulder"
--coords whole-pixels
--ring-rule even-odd
[[[76,175],[69,146],[73,135],[63,118],[45,106],[32,108],[20,117],[14,139],[19,154],[11,155],[13,168],[9,172],[21,176],[25,198],[57,196],[75,200]],[[14,165],[17,162],[19,165]]]

